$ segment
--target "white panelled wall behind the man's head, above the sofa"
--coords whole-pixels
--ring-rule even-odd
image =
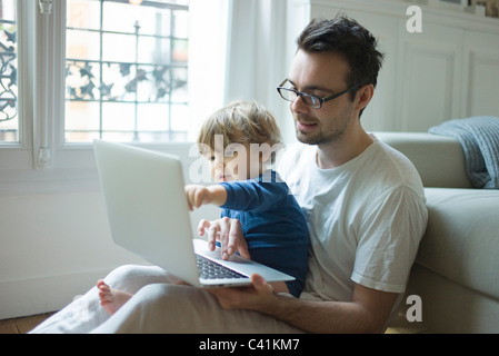
[[[311,0],[309,18],[346,12],[379,39],[386,61],[362,115],[371,131],[427,131],[445,120],[499,117],[499,19],[397,0]],[[420,4],[422,32],[409,32]]]

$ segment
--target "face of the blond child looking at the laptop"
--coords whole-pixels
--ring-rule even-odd
[[[231,144],[224,151],[212,151],[204,157],[210,161],[211,177],[216,182],[246,180],[261,174],[260,157],[250,154],[249,145]]]

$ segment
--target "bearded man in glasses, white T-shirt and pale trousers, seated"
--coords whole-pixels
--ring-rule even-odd
[[[405,291],[427,209],[413,166],[361,127],[381,67],[376,44],[356,21],[312,20],[278,88],[290,101],[298,139],[307,144],[288,149],[280,169],[310,231],[300,298],[275,294],[258,275],[252,287],[204,291],[176,285],[153,267],[122,267],[107,283],[138,293],[112,317],[91,290],[87,325],[68,322],[76,313],[69,306],[36,332],[383,332]],[[208,235],[228,254],[248,254],[237,220],[220,219]]]

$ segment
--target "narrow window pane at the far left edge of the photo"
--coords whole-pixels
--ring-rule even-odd
[[[0,144],[19,142],[16,0],[0,1]]]

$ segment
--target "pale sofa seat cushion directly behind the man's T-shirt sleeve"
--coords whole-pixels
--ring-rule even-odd
[[[417,264],[499,298],[499,190],[426,188]]]

